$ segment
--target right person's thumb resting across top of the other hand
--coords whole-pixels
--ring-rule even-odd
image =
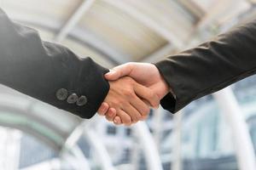
[[[105,78],[109,81],[118,80],[120,77],[129,76],[131,73],[131,65],[119,65],[110,70],[107,74],[105,74]]]

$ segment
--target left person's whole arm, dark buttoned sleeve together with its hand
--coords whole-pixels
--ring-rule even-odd
[[[10,88],[82,118],[94,116],[105,100],[125,124],[147,114],[148,105],[138,97],[159,105],[150,90],[127,78],[108,83],[107,69],[61,45],[42,42],[37,31],[15,24],[1,9],[0,26],[0,83]]]

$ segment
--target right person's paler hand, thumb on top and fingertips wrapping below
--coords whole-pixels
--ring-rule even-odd
[[[164,78],[161,77],[159,70],[153,64],[127,63],[113,68],[112,71],[105,75],[109,81],[117,80],[124,76],[132,77],[136,82],[152,89],[154,94],[158,95],[159,99],[162,99],[170,91],[168,84]],[[103,115],[108,112],[106,115],[110,117],[110,120],[115,116],[114,109],[109,109],[109,106],[106,103],[102,104],[99,112]],[[120,124],[120,117],[114,117],[113,122]]]

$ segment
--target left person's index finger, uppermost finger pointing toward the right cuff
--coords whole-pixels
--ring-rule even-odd
[[[157,94],[154,94],[150,88],[136,83],[134,85],[134,91],[138,97],[146,99],[152,107],[157,108],[160,105],[159,97]]]

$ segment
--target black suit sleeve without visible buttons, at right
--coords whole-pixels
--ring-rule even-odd
[[[155,64],[173,93],[161,105],[175,113],[191,101],[256,71],[256,20]]]

